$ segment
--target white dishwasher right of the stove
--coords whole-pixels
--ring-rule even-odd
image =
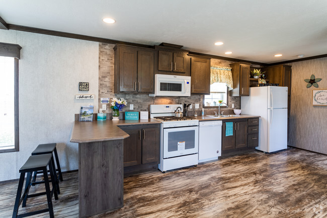
[[[221,156],[221,120],[199,122],[199,163]]]

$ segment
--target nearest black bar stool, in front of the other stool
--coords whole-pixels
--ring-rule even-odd
[[[55,184],[55,168],[53,164],[51,163],[51,157],[52,154],[45,154],[45,155],[36,155],[36,156],[30,156],[26,163],[21,167],[19,170],[21,176],[19,179],[19,184],[17,188],[17,195],[15,200],[15,206],[14,206],[14,212],[13,212],[13,218],[16,217],[25,217],[25,216],[31,216],[39,213],[49,212],[50,217],[54,218],[53,214],[53,206],[52,206],[52,196],[54,194],[54,199],[58,199],[57,191],[56,191],[56,184]],[[51,176],[52,181],[52,190],[50,191],[50,185],[49,185],[49,179],[48,179],[48,170]],[[45,185],[45,192],[35,193],[35,194],[29,194],[29,190],[31,187],[31,179],[32,179],[32,173],[35,171],[41,171],[43,172],[44,176],[44,185]],[[22,190],[23,190],[23,184],[25,180],[25,173],[27,173],[26,177],[26,184],[25,184],[25,190],[22,196]],[[48,208],[47,209],[41,209],[41,210],[35,210],[27,213],[22,213],[18,215],[18,209],[21,203],[23,202],[22,207],[26,206],[27,198],[36,197],[40,195],[46,194],[47,196],[47,202],[48,202]]]

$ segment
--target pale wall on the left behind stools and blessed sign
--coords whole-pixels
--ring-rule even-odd
[[[98,98],[99,43],[0,30],[0,42],[22,46],[19,60],[19,152],[0,154],[0,181],[19,169],[40,143],[57,143],[63,171],[78,169],[78,144],[71,143],[74,114],[97,100],[75,100],[78,82],[89,82]],[[83,93],[85,94],[85,92]],[[1,125],[1,124],[0,124]]]

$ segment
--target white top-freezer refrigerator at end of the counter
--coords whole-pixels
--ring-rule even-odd
[[[251,87],[250,96],[241,97],[242,114],[259,115],[257,150],[287,149],[287,87]]]

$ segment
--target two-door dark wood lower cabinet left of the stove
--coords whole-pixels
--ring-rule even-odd
[[[157,168],[159,124],[119,126],[130,136],[124,139],[124,176]]]

